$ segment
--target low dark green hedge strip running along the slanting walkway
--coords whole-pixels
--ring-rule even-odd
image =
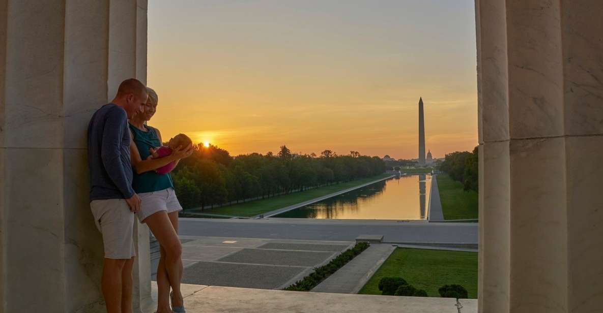
[[[291,290],[291,291],[310,291],[312,288],[316,287],[323,280],[327,279],[327,277],[331,276],[335,273],[339,268],[346,265],[347,262],[352,261],[357,255],[359,255],[362,251],[366,250],[370,246],[370,244],[365,242],[357,243],[350,249],[342,252],[340,255],[336,256],[326,265],[321,267],[315,267],[314,271],[306,277],[303,277],[301,280],[297,280],[295,284],[284,288],[283,290]]]

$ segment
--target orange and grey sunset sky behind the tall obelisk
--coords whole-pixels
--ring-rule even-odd
[[[151,0],[149,122],[231,155],[478,144],[473,0]]]

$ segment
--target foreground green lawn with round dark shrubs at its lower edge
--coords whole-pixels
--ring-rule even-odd
[[[429,297],[440,297],[443,285],[465,287],[470,299],[478,298],[478,253],[397,248],[362,287],[359,294],[381,294],[382,277],[402,277]]]

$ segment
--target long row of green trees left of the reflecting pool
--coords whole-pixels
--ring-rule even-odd
[[[276,155],[268,152],[232,157],[227,150],[211,144],[197,144],[191,157],[181,160],[171,175],[178,200],[188,209],[263,199],[368,178],[385,170],[379,157],[357,151],[350,151],[350,155],[337,155],[332,150],[324,150],[320,156],[297,155],[281,146]]]

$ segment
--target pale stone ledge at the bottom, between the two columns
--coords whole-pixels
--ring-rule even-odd
[[[186,312],[209,313],[456,313],[451,298],[369,296],[183,285]],[[154,287],[156,294],[156,287]],[[461,300],[463,313],[478,312],[478,301]]]

